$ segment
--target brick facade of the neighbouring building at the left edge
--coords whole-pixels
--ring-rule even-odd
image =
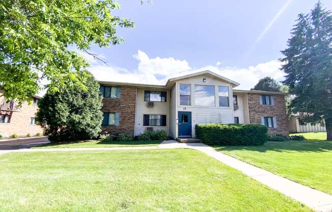
[[[3,91],[0,91],[0,95]],[[0,103],[2,104],[4,97],[0,97]],[[43,133],[42,128],[36,124],[30,124],[32,117],[36,116],[38,106],[27,102],[22,103],[22,107],[18,108],[18,111],[0,111],[1,115],[10,115],[10,123],[0,123],[0,135],[4,138],[16,134],[20,137],[25,137],[27,134],[31,136],[37,133]]]

